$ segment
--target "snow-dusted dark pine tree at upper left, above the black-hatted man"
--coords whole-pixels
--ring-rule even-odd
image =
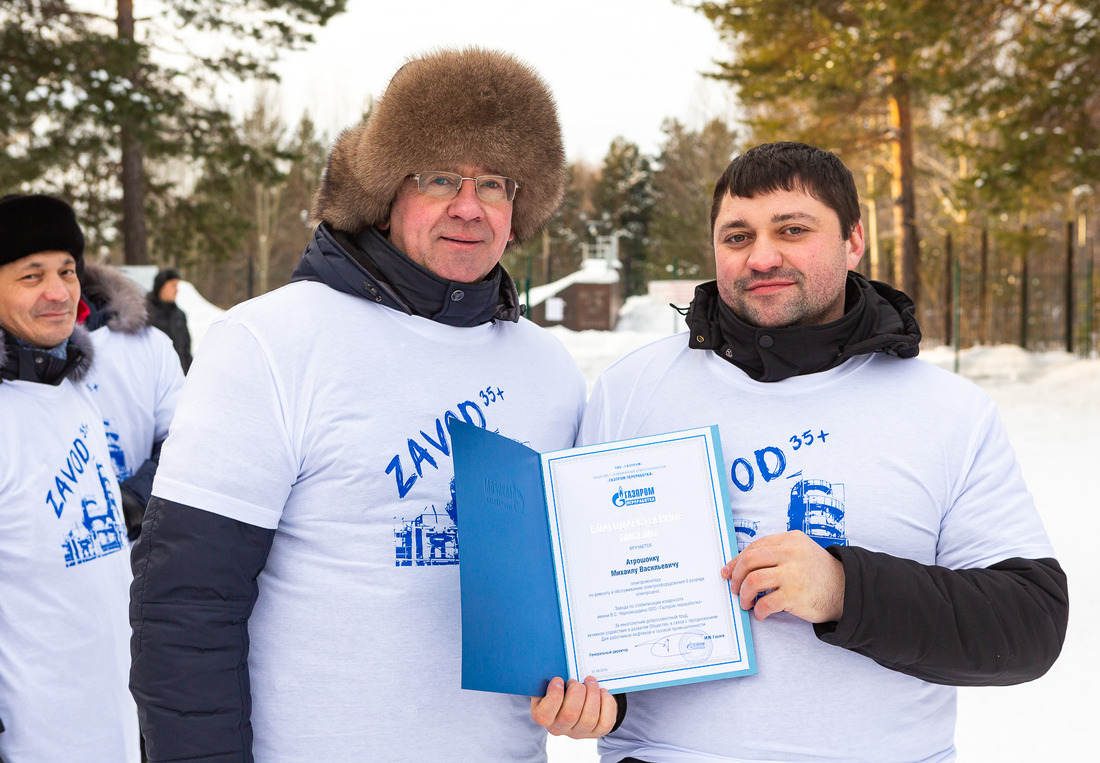
[[[162,0],[140,19],[132,0],[114,18],[0,0],[0,181],[63,193],[92,239],[121,234],[125,262],[147,262],[146,231],[180,192],[151,166],[243,153],[201,95],[220,78],[272,78],[276,57],[345,3]]]

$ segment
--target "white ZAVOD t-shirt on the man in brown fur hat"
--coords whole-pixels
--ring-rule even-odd
[[[257,761],[544,760],[528,698],[460,688],[446,417],[549,451],[584,394],[526,320],[460,329],[296,283],[211,327],[153,491],[277,529],[249,622]]]

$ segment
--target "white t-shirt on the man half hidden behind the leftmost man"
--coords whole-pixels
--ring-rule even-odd
[[[128,334],[106,325],[90,333],[96,363],[82,384],[96,392],[119,482],[150,457],[168,424],[184,386],[172,340],[146,328]]]

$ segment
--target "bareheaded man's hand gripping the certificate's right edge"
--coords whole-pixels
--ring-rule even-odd
[[[785,611],[807,622],[828,622],[844,613],[844,565],[804,532],[754,541],[722,568],[722,576],[740,597],[741,609],[752,609],[757,620]]]

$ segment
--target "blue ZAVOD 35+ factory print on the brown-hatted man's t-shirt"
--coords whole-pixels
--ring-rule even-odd
[[[414,489],[420,479],[440,469],[441,461],[451,458],[451,442],[447,432],[450,418],[487,428],[486,412],[504,402],[499,387],[479,390],[476,400],[462,400],[437,417],[430,433],[419,430],[406,438],[406,445],[389,460],[385,472],[394,480],[399,500],[418,500]],[[420,498],[419,500],[422,500]],[[394,517],[394,557],[398,567],[427,567],[459,563],[458,507],[454,501],[454,477],[450,483],[450,499],[440,508],[436,504],[420,505],[414,516]]]

